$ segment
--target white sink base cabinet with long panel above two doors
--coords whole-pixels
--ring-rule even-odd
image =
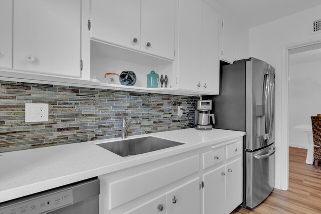
[[[102,175],[101,213],[153,213],[159,204],[166,213],[199,213],[199,170],[200,155],[194,152]]]

